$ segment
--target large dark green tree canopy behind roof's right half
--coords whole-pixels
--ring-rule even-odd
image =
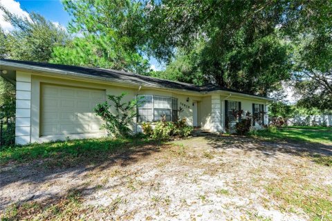
[[[282,81],[290,79],[299,35],[332,30],[331,1],[164,0],[149,6],[149,32],[154,34],[149,49],[159,59],[170,61],[165,73],[157,74],[164,77],[186,67],[188,76],[203,73],[205,83],[259,95],[278,90]],[[313,39],[320,42],[319,36]],[[203,41],[203,48],[197,50],[197,41]],[[174,48],[184,49],[186,59]],[[189,56],[192,50],[199,55],[195,62]],[[196,83],[181,73],[181,79]]]

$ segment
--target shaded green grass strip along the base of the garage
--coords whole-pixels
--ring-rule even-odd
[[[48,142],[29,144],[21,147],[0,149],[0,165],[8,162],[33,162],[33,160],[48,160],[61,164],[76,164],[82,161],[100,162],[109,154],[131,151],[133,148],[147,144],[150,140],[143,138],[127,139],[89,139],[66,140],[64,142]]]

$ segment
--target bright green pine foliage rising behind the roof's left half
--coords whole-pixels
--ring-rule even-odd
[[[57,47],[51,60],[57,64],[93,66],[147,73],[142,55],[143,5],[136,1],[62,1],[73,19],[68,30],[78,35],[72,44]]]

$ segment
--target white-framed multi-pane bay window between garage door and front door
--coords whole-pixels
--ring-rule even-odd
[[[158,95],[138,96],[138,122],[153,122],[164,115],[167,121],[178,119],[178,99]]]

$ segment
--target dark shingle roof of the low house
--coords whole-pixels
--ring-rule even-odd
[[[214,90],[225,90],[234,93],[242,93],[238,90],[232,90],[229,88],[221,88],[219,86],[215,86],[213,84],[208,84],[205,86],[196,86],[194,84],[187,84],[183,82],[177,81],[169,81],[165,79],[158,79],[156,77],[148,77],[145,75],[138,75],[135,73],[127,73],[120,70],[113,70],[113,69],[105,69],[105,68],[89,68],[89,67],[81,67],[81,66],[69,66],[63,64],[49,64],[49,63],[42,63],[42,62],[33,62],[33,61],[17,61],[11,59],[0,59],[0,61],[6,61],[15,64],[24,64],[28,66],[33,66],[37,68],[45,68],[45,69],[52,69],[52,70],[59,70],[64,71],[67,73],[75,73],[78,75],[86,75],[86,76],[93,76],[93,77],[102,77],[107,79],[115,79],[126,81],[128,83],[133,84],[151,84],[157,86],[163,86],[165,88],[175,88],[181,90],[192,90],[196,92],[210,92]],[[243,93],[247,95],[252,95],[250,93]],[[258,95],[253,95],[258,96]],[[258,96],[261,97],[261,96]]]

